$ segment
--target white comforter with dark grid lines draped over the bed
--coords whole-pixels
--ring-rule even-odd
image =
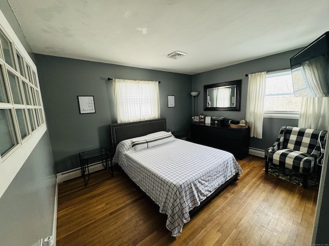
[[[190,210],[235,173],[242,173],[226,151],[181,139],[139,151],[131,143],[127,139],[118,144],[114,163],[158,204],[160,213],[167,214],[166,227],[174,237],[190,221]]]

